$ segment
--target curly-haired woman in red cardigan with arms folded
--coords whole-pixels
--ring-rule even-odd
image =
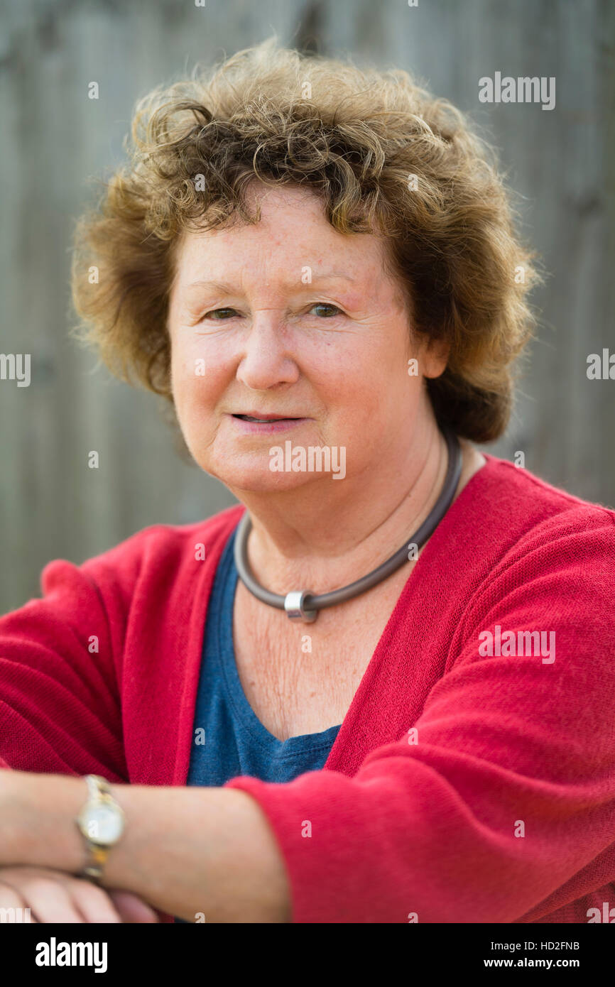
[[[615,512],[473,444],[536,277],[491,149],[404,72],[269,41],[141,102],[75,303],[240,503],[53,562],[0,622],[1,905],[613,901]]]

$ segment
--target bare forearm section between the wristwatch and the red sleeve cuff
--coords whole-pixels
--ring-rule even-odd
[[[113,786],[126,833],[110,886],[188,921],[287,922],[282,858],[258,804],[230,789]]]

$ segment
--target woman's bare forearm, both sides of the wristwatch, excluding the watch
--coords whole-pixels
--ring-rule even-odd
[[[9,772],[0,778],[0,866],[79,873],[86,859],[75,817],[82,779]],[[113,785],[125,830],[104,884],[190,922],[290,921],[289,888],[269,823],[230,789]]]

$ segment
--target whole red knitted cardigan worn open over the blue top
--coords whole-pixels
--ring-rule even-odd
[[[325,768],[227,783],[269,818],[294,922],[615,907],[615,511],[486,459],[425,546]],[[0,619],[4,767],[186,784],[209,590],[243,509],[43,569],[42,599]],[[555,660],[485,654],[497,626],[515,642],[554,632]]]

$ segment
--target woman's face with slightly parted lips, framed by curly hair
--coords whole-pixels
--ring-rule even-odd
[[[378,237],[336,231],[311,191],[254,184],[250,196],[256,225],[186,234],[178,250],[168,325],[187,444],[238,494],[331,484],[331,473],[272,471],[270,450],[288,441],[345,447],[346,479],[367,481],[408,456],[429,415],[423,376],[445,357],[411,344]]]

